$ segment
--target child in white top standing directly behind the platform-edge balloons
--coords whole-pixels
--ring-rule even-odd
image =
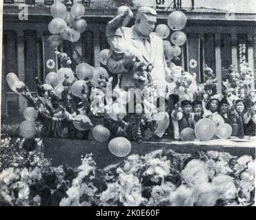
[[[219,115],[219,100],[217,98],[211,98],[206,103],[206,111],[204,111],[204,118],[209,118],[213,120],[217,126],[219,124],[225,123],[224,119]]]

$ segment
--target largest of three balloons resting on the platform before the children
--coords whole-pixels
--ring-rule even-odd
[[[210,140],[216,133],[216,124],[208,118],[203,118],[195,124],[195,136],[199,140]]]

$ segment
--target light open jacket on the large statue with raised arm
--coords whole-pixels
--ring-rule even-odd
[[[145,63],[151,63],[153,83],[161,89],[165,89],[166,75],[170,74],[170,69],[166,64],[164,57],[164,43],[159,36],[150,34],[150,53],[146,51],[144,43],[135,31],[134,26],[132,28],[121,27],[119,37],[126,42],[128,50],[131,54],[135,54],[141,58],[141,61]],[[108,70],[112,74],[121,74],[121,88],[124,87],[135,87],[135,80],[133,79],[132,68],[127,68],[125,60],[115,61],[111,58],[111,51],[108,56]]]

